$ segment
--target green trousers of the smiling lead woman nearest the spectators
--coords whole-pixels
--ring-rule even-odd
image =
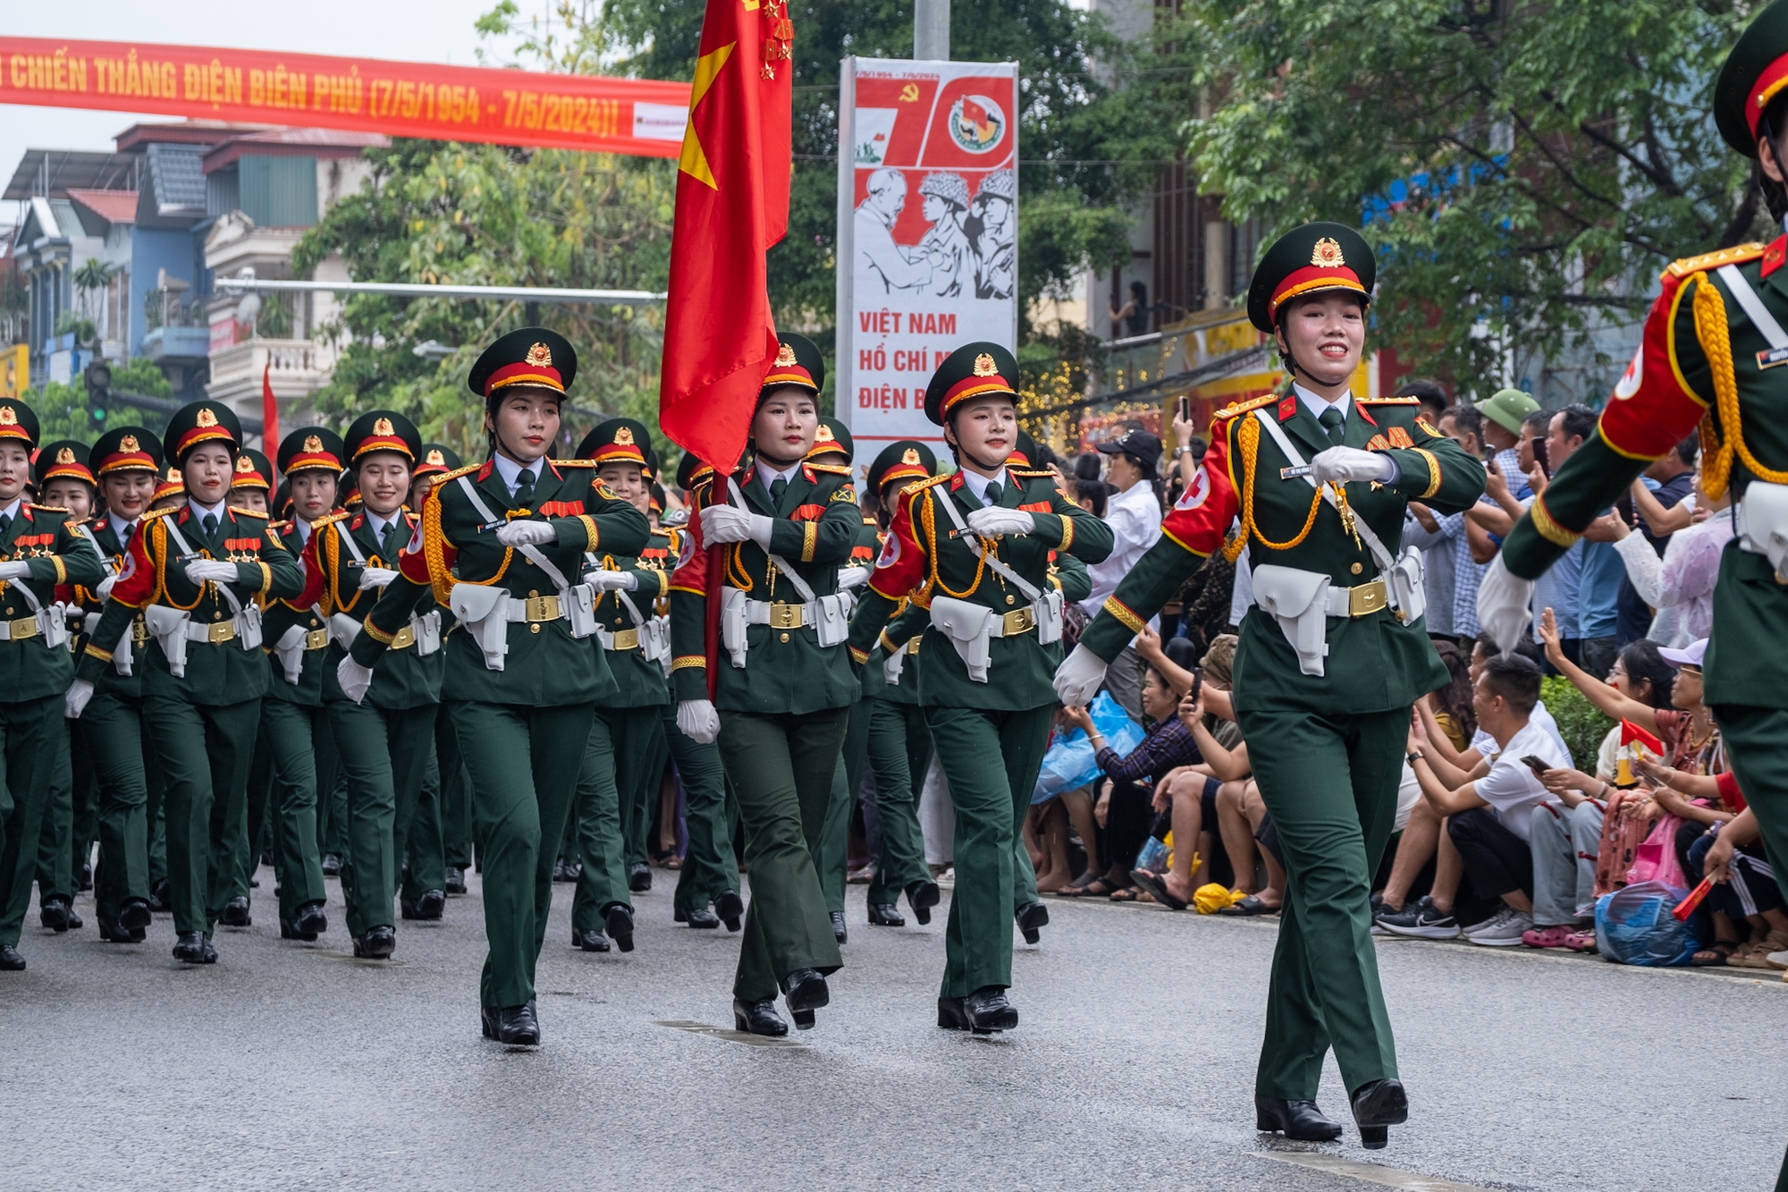
[[[1352,1094],[1396,1076],[1379,988],[1371,877],[1396,820],[1409,709],[1237,712],[1261,800],[1286,854],[1286,909],[1273,950],[1255,1092],[1309,1101],[1334,1047]]]

